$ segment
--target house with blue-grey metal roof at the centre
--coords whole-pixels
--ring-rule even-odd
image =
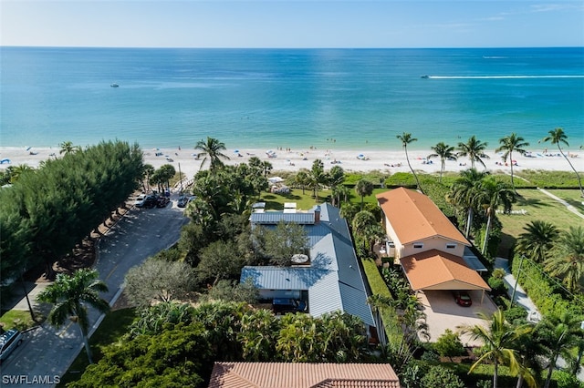
[[[308,312],[318,317],[344,311],[357,316],[377,332],[376,319],[367,303],[366,281],[360,269],[347,221],[339,209],[325,203],[308,212],[266,211],[252,213],[252,228],[270,227],[279,221],[304,227],[310,247],[309,263],[290,267],[246,266],[241,281],[251,278],[260,298],[297,298],[308,301]],[[382,332],[382,331],[381,331]]]

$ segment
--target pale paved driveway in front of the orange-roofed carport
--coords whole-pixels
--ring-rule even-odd
[[[436,342],[438,338],[450,329],[457,332],[458,326],[476,324],[485,325],[485,321],[477,317],[477,312],[482,311],[491,315],[496,311],[493,301],[485,293],[481,301],[482,291],[468,291],[473,300],[470,307],[462,307],[456,304],[451,291],[423,291],[418,293],[422,301],[423,311],[426,313],[426,322],[430,330],[430,342]],[[425,341],[422,339],[422,341]],[[480,342],[471,341],[468,335],[461,335],[464,346],[480,346]]]

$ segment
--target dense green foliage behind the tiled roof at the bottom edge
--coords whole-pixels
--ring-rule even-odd
[[[278,319],[243,303],[163,302],[143,311],[131,333],[71,386],[204,386],[214,361],[367,362],[364,334],[347,314]]]

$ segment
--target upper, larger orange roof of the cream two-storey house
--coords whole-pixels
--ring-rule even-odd
[[[442,236],[471,246],[432,199],[425,195],[411,189],[399,188],[382,192],[376,197],[401,244]]]

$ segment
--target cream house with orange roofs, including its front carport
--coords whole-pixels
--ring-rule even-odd
[[[491,290],[471,243],[432,199],[411,189],[377,195],[387,232],[386,251],[399,260],[414,291]]]

